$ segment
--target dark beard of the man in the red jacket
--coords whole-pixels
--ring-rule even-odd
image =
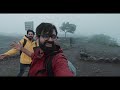
[[[43,44],[40,44],[40,48],[43,50],[45,54],[54,52],[56,49],[55,43],[53,41],[46,41]]]

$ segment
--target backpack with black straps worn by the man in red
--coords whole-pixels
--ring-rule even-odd
[[[39,74],[39,73],[42,74],[45,71],[47,71],[48,77],[54,76],[54,73],[52,71],[52,60],[53,60],[54,55],[56,55],[58,53],[59,53],[59,51],[58,52],[53,52],[48,57],[46,57],[45,61],[44,61],[45,69],[38,70],[36,72],[36,75]],[[69,60],[68,60],[68,66],[69,66],[69,69],[74,73],[74,76],[76,76],[76,68],[74,67],[74,65]],[[29,76],[29,74],[28,74],[28,76]]]

